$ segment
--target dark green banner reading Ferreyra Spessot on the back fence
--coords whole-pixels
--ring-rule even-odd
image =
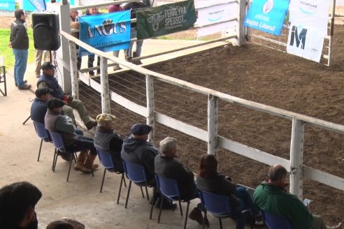
[[[194,0],[136,10],[137,38],[143,40],[189,29],[196,22]]]

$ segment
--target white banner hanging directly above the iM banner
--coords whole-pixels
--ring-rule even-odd
[[[327,34],[329,5],[330,0],[293,0],[289,5],[289,21]]]

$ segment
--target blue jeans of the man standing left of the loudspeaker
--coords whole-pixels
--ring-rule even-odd
[[[28,50],[17,50],[13,48],[13,55],[15,56],[14,77],[15,83],[18,87],[24,86],[24,74],[27,71],[27,56]]]

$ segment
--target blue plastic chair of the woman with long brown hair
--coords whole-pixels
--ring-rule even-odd
[[[201,198],[201,202],[203,203],[207,211],[219,219],[221,229],[223,218],[238,219],[236,224],[236,228],[238,229],[244,226],[246,216],[250,214],[250,211],[248,209],[244,209],[240,214],[234,216],[227,195],[218,195],[215,193],[210,193],[208,191],[199,190],[199,198]],[[205,219],[206,215],[207,212],[204,216]],[[206,220],[203,221],[203,228],[205,226],[205,221]],[[250,227],[252,229],[252,224],[250,224]]]

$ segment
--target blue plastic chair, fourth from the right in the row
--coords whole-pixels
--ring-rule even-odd
[[[145,168],[142,165],[138,165],[136,163],[131,163],[129,161],[123,160],[123,167],[124,172],[127,178],[130,180],[128,192],[127,192],[127,199],[125,200],[125,208],[127,208],[128,205],[128,199],[131,189],[131,182],[134,182],[137,186],[140,186],[142,197],[145,198],[145,195],[143,194],[142,187],[145,187],[145,193],[147,195],[147,200],[150,200],[148,195],[148,184],[147,184],[147,178],[145,177]]]

